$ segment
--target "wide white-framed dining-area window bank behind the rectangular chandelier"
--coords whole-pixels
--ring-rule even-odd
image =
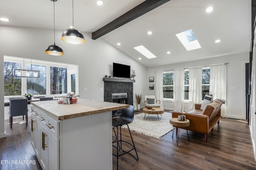
[[[40,76],[16,77],[14,69],[37,70]],[[25,93],[58,95],[68,91],[78,93],[76,73],[78,65],[4,56],[4,96],[23,96]]]

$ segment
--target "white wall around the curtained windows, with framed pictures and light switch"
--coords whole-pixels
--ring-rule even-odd
[[[249,50],[249,49],[248,49]],[[218,63],[227,64],[227,99],[226,99],[226,115],[225,117],[235,119],[245,119],[245,63],[249,59],[248,53],[225,55],[197,61],[189,61],[184,63],[176,63],[170,65],[162,65],[150,67],[147,69],[148,77],[156,77],[155,71],[165,71],[179,68],[188,68],[196,66],[208,66]],[[147,94],[155,95],[155,90],[149,90],[148,85],[152,84],[147,81]],[[155,82],[154,82],[154,86]],[[236,90],[230,90],[230,87],[236,86]],[[173,102],[164,101],[164,108],[173,110]],[[243,108],[243,109],[242,109]],[[185,110],[187,105],[185,103]]]

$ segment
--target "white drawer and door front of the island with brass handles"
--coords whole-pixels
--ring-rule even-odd
[[[31,144],[43,170],[59,170],[59,122],[32,106]]]

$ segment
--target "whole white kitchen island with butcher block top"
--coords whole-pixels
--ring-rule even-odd
[[[119,103],[31,102],[31,144],[42,169],[112,170],[112,111]]]

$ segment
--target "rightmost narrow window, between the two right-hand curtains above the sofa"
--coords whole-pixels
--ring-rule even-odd
[[[202,100],[209,94],[210,89],[210,67],[203,67],[202,73]]]

